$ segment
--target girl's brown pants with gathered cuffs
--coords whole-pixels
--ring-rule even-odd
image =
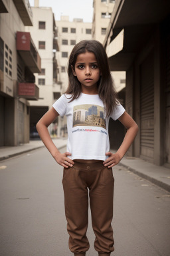
[[[100,256],[110,255],[114,251],[112,168],[104,167],[103,161],[75,162],[73,167],[64,168],[62,185],[70,251],[76,256],[84,256],[89,249],[86,237],[89,189],[92,227],[96,235],[94,248]]]

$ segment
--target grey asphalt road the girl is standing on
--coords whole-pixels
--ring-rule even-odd
[[[114,178],[112,255],[169,256],[170,194],[124,167],[114,167]],[[45,148],[0,163],[1,256],[72,255],[61,181],[62,167]],[[88,239],[86,255],[97,256],[91,221]]]

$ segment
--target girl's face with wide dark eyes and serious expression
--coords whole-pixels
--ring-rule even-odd
[[[88,89],[97,90],[97,83],[100,79],[100,70],[94,53],[86,51],[78,55],[75,67],[72,67],[75,75],[82,85],[82,92]]]

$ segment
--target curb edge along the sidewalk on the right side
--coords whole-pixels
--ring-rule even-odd
[[[128,165],[125,165],[124,163],[119,163],[120,166],[126,167],[129,171],[131,171],[132,173],[137,174],[139,177],[143,178],[143,179],[147,179],[147,181],[151,181],[151,183],[154,183],[155,185],[161,187],[162,189],[165,189],[166,191],[170,192],[170,185],[159,181],[158,179],[155,179],[149,175],[146,175],[144,173],[141,173],[140,171],[136,171],[135,169],[129,167]]]

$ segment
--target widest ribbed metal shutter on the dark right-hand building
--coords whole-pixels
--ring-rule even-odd
[[[140,154],[153,162],[154,153],[154,55],[146,57],[140,67]]]

